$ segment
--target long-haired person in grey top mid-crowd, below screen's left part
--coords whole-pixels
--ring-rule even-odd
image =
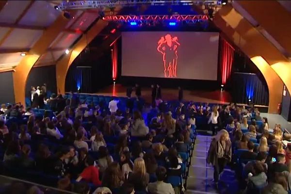
[[[144,118],[139,111],[133,112],[133,123],[130,132],[132,137],[144,137],[149,132],[148,127],[146,127]]]

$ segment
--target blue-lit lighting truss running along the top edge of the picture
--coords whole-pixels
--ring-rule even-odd
[[[221,0],[69,0],[59,5],[61,10],[69,9],[93,9],[116,6],[136,6],[139,4],[149,5],[221,5]]]

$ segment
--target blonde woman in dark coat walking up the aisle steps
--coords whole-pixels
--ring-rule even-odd
[[[219,175],[222,173],[227,162],[231,161],[231,142],[229,134],[225,129],[220,130],[213,137],[207,156],[207,163],[214,167],[214,182],[218,186]]]

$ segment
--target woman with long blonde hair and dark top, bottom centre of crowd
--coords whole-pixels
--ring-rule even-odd
[[[144,159],[134,160],[133,172],[129,174],[128,182],[134,185],[135,191],[146,191],[149,182],[149,174],[146,172]]]

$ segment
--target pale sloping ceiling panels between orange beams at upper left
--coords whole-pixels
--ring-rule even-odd
[[[60,0],[0,1],[0,71],[15,68],[22,60],[21,52],[29,52],[44,31],[63,14],[54,9]],[[34,66],[55,65],[65,49],[81,36],[99,16],[95,10],[78,10],[65,29],[49,45]]]

